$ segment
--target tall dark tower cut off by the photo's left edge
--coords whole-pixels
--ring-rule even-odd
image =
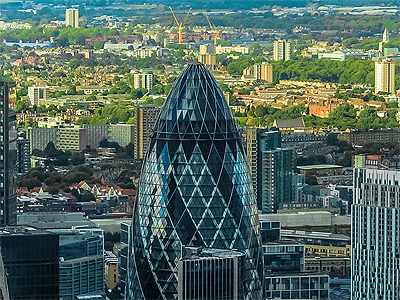
[[[0,82],[0,225],[17,218],[17,119],[15,85]]]

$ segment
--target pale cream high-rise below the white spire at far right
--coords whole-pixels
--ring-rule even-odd
[[[394,94],[396,92],[395,68],[394,61],[375,62],[375,93]]]

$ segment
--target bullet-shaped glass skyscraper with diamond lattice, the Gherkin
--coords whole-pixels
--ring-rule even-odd
[[[127,299],[176,299],[181,246],[242,250],[241,299],[262,299],[256,200],[240,134],[211,73],[189,64],[156,122],[132,222]]]

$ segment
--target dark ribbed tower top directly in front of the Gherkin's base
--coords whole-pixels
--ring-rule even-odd
[[[178,300],[243,299],[245,257],[239,251],[183,246]]]

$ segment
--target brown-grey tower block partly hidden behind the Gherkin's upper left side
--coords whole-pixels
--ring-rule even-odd
[[[138,105],[135,107],[134,158],[143,159],[150,145],[153,127],[160,114],[161,106]]]

